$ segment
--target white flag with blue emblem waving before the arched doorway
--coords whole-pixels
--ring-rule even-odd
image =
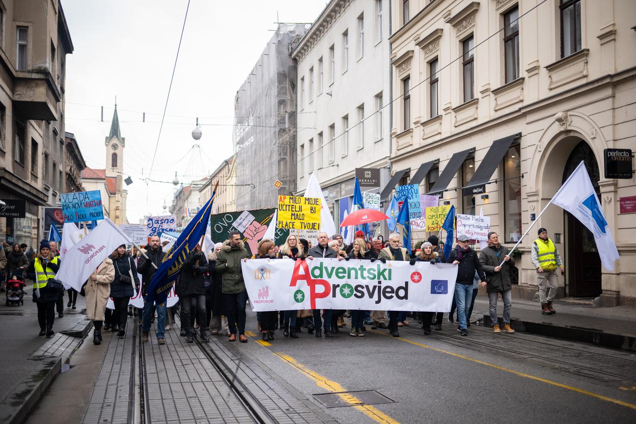
[[[605,269],[613,271],[618,250],[583,161],[559,188],[551,202],[574,215],[594,234],[600,262]]]

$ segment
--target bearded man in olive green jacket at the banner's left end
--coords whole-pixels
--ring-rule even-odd
[[[247,302],[247,290],[243,281],[241,260],[247,260],[249,253],[241,241],[240,232],[231,231],[229,238],[223,242],[223,248],[216,258],[214,269],[221,274],[223,281],[223,296],[225,307],[228,311],[228,324],[230,325],[230,339],[236,341],[237,325],[239,327],[239,341],[247,343],[245,337],[245,303]]]

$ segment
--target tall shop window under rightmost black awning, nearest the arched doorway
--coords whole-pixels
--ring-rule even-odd
[[[521,237],[521,157],[520,145],[512,146],[504,157],[504,231],[506,242]]]

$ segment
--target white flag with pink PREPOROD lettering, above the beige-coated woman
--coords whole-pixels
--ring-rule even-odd
[[[99,264],[126,243],[132,244],[132,241],[111,220],[104,218],[79,243],[66,251],[55,279],[79,292]]]

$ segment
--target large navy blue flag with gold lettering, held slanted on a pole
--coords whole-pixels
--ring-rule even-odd
[[[212,192],[211,199],[207,201],[203,208],[198,211],[197,215],[192,218],[188,226],[181,233],[181,236],[174,242],[172,248],[170,248],[167,255],[163,258],[161,265],[159,265],[159,268],[155,274],[153,274],[153,278],[151,278],[150,284],[148,285],[146,302],[156,302],[157,304],[165,303],[170,288],[172,288],[174,281],[181,273],[181,265],[188,260],[190,251],[197,246],[201,241],[201,237],[205,234],[207,225],[210,222],[213,199],[214,192]]]

